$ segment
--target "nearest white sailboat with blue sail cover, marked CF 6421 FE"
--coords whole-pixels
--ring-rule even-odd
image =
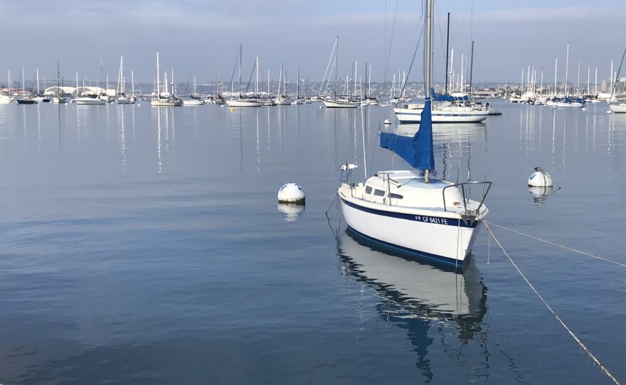
[[[425,90],[430,90],[433,1],[426,4]],[[381,147],[417,170],[384,170],[365,183],[353,183],[356,166],[346,164],[341,166],[344,175],[337,194],[346,224],[362,237],[411,256],[460,266],[489,212],[483,202],[492,183],[436,178],[430,104],[427,94],[415,136],[381,133]],[[470,199],[474,187],[482,188],[479,200]]]

